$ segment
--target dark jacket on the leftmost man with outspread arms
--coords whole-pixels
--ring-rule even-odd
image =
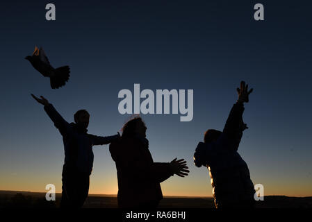
[[[120,137],[119,135],[99,137],[88,134],[87,129],[80,128],[76,123],[67,123],[52,104],[44,105],[44,110],[63,137],[64,169],[68,171],[74,170],[90,175],[94,159],[92,146],[109,144]]]

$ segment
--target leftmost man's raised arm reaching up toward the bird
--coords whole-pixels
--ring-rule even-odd
[[[69,133],[72,133],[72,128],[70,127],[69,123],[63,119],[63,117],[56,111],[54,106],[49,103],[47,99],[45,99],[43,96],[40,96],[41,99],[39,99],[33,94],[31,94],[31,96],[33,96],[33,99],[35,99],[38,103],[44,105],[45,112],[47,112],[50,119],[54,122],[54,126],[58,128],[61,135],[66,136]]]

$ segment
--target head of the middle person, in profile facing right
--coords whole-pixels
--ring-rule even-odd
[[[136,117],[124,124],[122,128],[122,137],[146,137],[147,127],[141,117]]]

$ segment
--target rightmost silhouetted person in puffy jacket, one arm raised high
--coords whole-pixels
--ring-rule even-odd
[[[215,207],[254,207],[254,185],[246,162],[238,154],[238,146],[247,125],[243,122],[244,103],[249,101],[248,85],[240,83],[238,101],[224,126],[223,132],[207,130],[204,143],[199,142],[194,162],[197,167],[208,167],[213,187]]]

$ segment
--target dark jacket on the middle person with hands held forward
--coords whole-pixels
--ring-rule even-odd
[[[163,198],[160,183],[173,173],[170,163],[153,161],[147,139],[122,137],[109,151],[117,168],[119,207],[144,207]]]

